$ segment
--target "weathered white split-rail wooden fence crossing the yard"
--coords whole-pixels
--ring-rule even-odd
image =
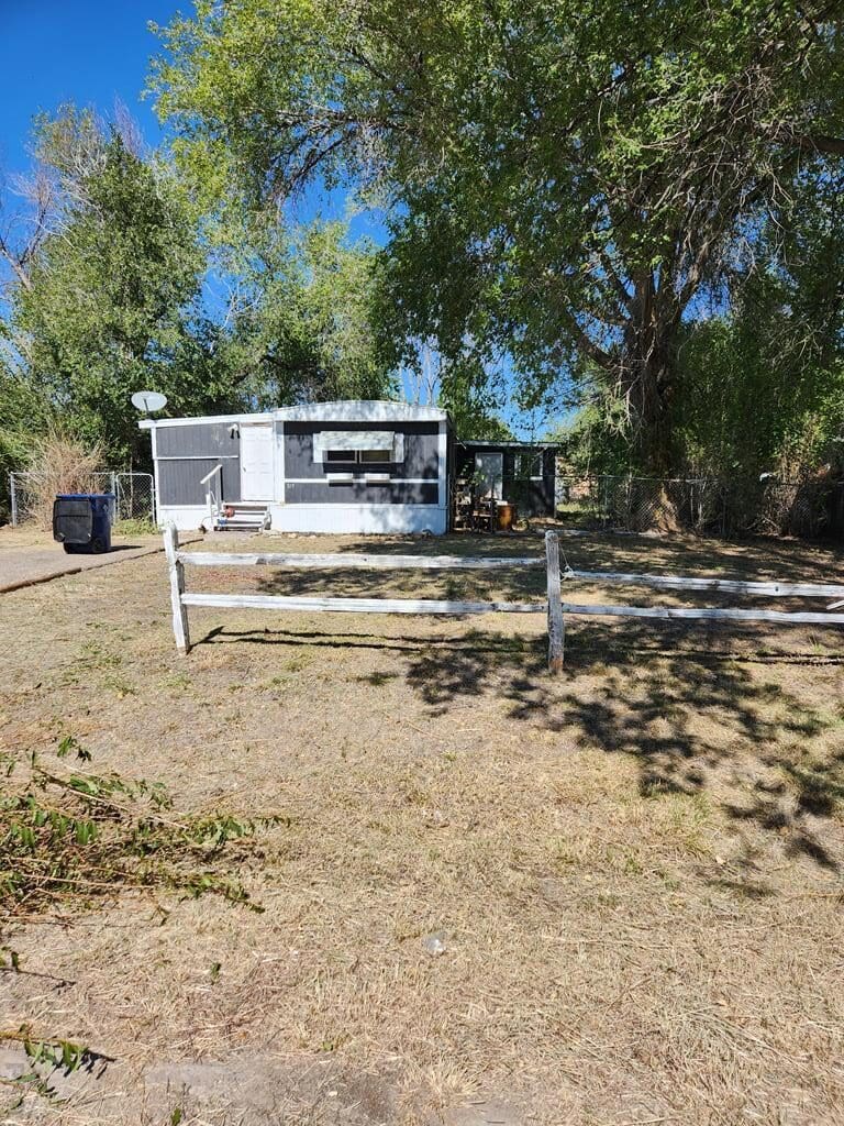
[[[560,570],[559,538],[556,531],[545,535],[545,558],[526,556],[461,555],[290,555],[277,552],[218,553],[179,551],[179,533],[173,525],[164,529],[164,551],[170,569],[170,596],[173,609],[173,635],[180,653],[190,650],[188,607],[218,606],[226,609],[331,611],[341,614],[547,614],[548,668],[560,672],[565,645],[565,615],[601,615],[610,617],[699,618],[733,622],[774,622],[783,625],[844,625],[844,614],[832,613],[844,607],[844,586],[833,583],[751,582],[740,579],[709,579],[659,574],[628,574],[617,571]],[[420,571],[497,571],[503,568],[535,568],[545,564],[546,601],[532,602],[460,602],[428,598],[315,598],[287,595],[221,595],[188,591],[185,566],[277,566],[295,570],[420,570]],[[563,601],[563,582],[583,580],[592,583],[643,586],[657,590],[712,590],[724,593],[753,595],[762,598],[832,598],[825,611],[792,613],[763,609],[733,609],[679,606],[616,606]]]

